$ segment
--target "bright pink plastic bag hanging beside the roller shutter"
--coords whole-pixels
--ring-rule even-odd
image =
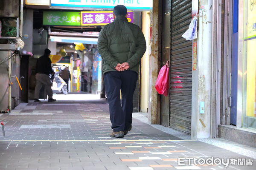
[[[163,94],[164,96],[168,96],[169,89],[169,60],[166,62],[158,74],[157,82],[155,85],[157,92],[159,94]]]

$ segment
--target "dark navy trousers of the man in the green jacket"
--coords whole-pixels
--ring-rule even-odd
[[[114,132],[128,130],[132,123],[133,94],[138,74],[134,71],[110,71],[104,74],[110,120]],[[122,93],[122,105],[120,101]]]

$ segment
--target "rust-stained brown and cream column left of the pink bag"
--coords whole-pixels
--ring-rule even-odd
[[[160,95],[157,94],[155,83],[157,81],[158,72],[160,70],[161,60],[161,0],[153,0],[152,12],[152,40],[150,55],[150,80],[149,80],[149,102],[148,102],[148,122],[151,124],[160,124]]]

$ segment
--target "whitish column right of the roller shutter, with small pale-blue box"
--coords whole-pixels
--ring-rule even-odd
[[[209,138],[211,134],[212,0],[201,0],[199,8],[197,70],[192,72],[192,139]],[[202,102],[204,113],[200,113]]]

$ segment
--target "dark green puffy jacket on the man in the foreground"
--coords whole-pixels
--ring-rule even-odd
[[[102,57],[102,71],[116,71],[116,65],[128,62],[129,70],[139,74],[140,60],[146,51],[146,42],[140,27],[117,16],[113,23],[102,28],[98,39]]]

